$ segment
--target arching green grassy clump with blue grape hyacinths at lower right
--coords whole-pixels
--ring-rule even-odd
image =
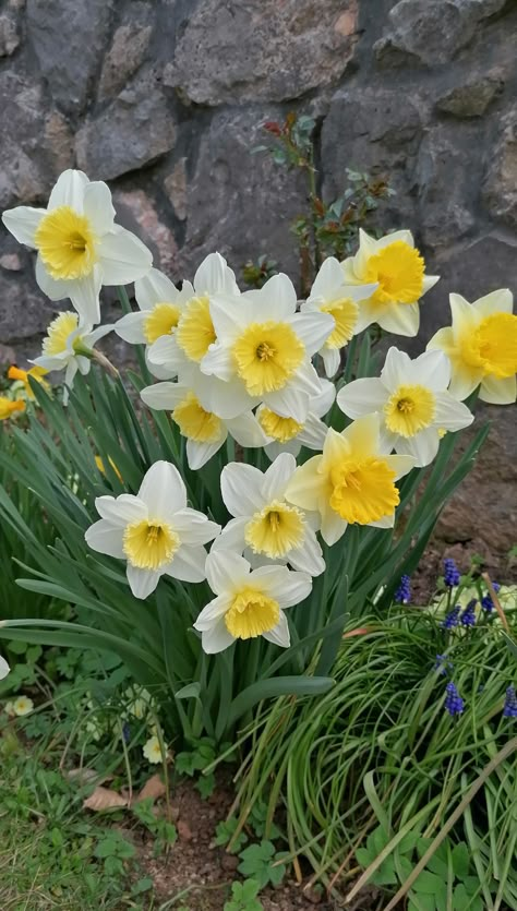
[[[505,618],[515,633],[515,597]],[[312,882],[344,896],[368,867],[363,882],[381,888],[385,908],[386,890],[407,880],[495,757],[443,840],[442,907],[449,900],[454,911],[516,908],[517,742],[497,758],[516,733],[503,712],[515,671],[496,611],[478,607],[473,625],[454,628],[444,626],[440,609],[400,606],[384,619],[374,612],[361,619],[360,630],[350,622],[333,690],[312,700],[279,699],[256,722],[239,776],[236,835],[268,793],[268,819],[285,805],[291,858],[310,861]],[[450,702],[450,684],[460,703]],[[467,886],[452,866],[447,884],[447,851],[458,844],[470,858],[461,867]],[[418,886],[417,879],[409,907],[428,911]]]

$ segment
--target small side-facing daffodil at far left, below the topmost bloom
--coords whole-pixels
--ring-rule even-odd
[[[43,341],[43,353],[35,358],[33,363],[43,368],[45,372],[65,371],[64,405],[68,403],[69,389],[73,386],[75,374],[77,371],[83,375],[89,372],[94,345],[112,328],[108,325],[94,329],[91,323],[84,323],[77,313],[71,311],[59,313],[50,323]]]

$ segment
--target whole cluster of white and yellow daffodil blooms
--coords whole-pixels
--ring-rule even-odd
[[[100,459],[107,493],[85,541],[124,564],[136,599],[166,579],[201,586],[189,600],[206,652],[258,637],[287,648],[290,609],[308,609],[328,548],[347,548],[349,526],[394,527],[400,479],[472,422],[473,392],[516,399],[517,316],[506,289],[474,303],[452,295],[452,325],[423,353],[410,358],[392,344],[380,369],[353,374],[357,336],[371,325],[416,336],[421,301],[438,280],[407,230],[380,239],[360,231],[356,254],[328,257],[300,303],[284,274],[242,291],[218,253],[176,285],[117,225],[107,185],[81,171],[59,178],[47,209],[22,206],[3,220],[37,251],[41,289],[71,301],[33,370],[64,371],[70,389],[103,363],[95,346],[109,332],[142,346],[156,380],[141,387],[142,406],[165,412],[185,464],[164,452],[136,492],[112,496]],[[101,286],[131,281],[137,309],[103,325]],[[190,472],[204,470],[220,491],[220,522],[191,501]],[[135,717],[146,710],[143,696],[134,699]],[[154,734],[144,755],[161,760]]]

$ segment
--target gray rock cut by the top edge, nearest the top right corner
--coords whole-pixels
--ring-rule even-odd
[[[478,23],[500,12],[506,0],[399,0],[389,26],[374,45],[381,64],[447,63],[472,39]]]

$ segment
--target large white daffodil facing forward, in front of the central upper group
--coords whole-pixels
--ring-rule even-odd
[[[311,363],[332,333],[328,313],[297,313],[297,295],[287,275],[274,275],[258,291],[236,300],[211,301],[217,343],[201,370],[225,382],[238,377],[248,394],[285,418],[304,421],[311,395],[320,389]]]

